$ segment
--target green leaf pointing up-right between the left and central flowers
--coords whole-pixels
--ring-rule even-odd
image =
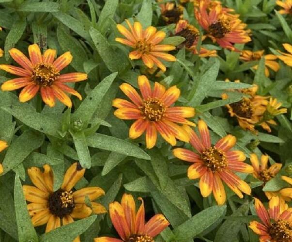
[[[83,123],[88,123],[99,104],[102,102],[112,82],[117,76],[117,72],[107,76],[103,79],[83,100],[75,113],[72,115],[72,120],[81,120]],[[102,108],[102,107],[101,107]]]

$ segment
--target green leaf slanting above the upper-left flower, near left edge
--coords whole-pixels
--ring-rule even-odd
[[[6,61],[8,61],[10,57],[9,50],[12,49],[15,46],[15,44],[18,42],[18,40],[21,38],[25,28],[26,28],[25,19],[17,20],[12,25],[11,30],[7,34],[5,44],[4,44],[4,53],[5,53]]]

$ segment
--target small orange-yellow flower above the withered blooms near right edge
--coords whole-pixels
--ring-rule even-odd
[[[261,57],[265,59],[265,70],[264,73],[266,76],[270,76],[269,68],[274,72],[277,72],[280,69],[280,65],[277,61],[276,55],[263,55],[264,50],[251,51],[251,50],[243,50],[240,55],[240,60],[243,61],[260,61]],[[255,65],[253,69],[257,70],[258,65]]]

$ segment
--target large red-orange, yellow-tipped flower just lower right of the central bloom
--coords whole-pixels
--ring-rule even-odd
[[[198,136],[189,126],[184,126],[190,135],[190,143],[199,154],[176,148],[173,150],[175,157],[193,163],[188,168],[187,176],[189,179],[200,178],[199,186],[203,197],[208,197],[212,192],[216,202],[222,205],[226,201],[224,181],[231,190],[240,198],[243,193],[250,195],[249,185],[241,180],[234,171],[253,173],[253,167],[244,163],[246,156],[242,151],[231,151],[236,144],[236,138],[228,135],[220,139],[214,146],[211,145],[211,139],[207,124],[199,120]]]

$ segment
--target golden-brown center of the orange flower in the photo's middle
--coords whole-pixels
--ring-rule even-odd
[[[150,121],[160,120],[166,111],[164,104],[157,98],[148,98],[147,100],[143,100],[143,105],[140,109]]]

